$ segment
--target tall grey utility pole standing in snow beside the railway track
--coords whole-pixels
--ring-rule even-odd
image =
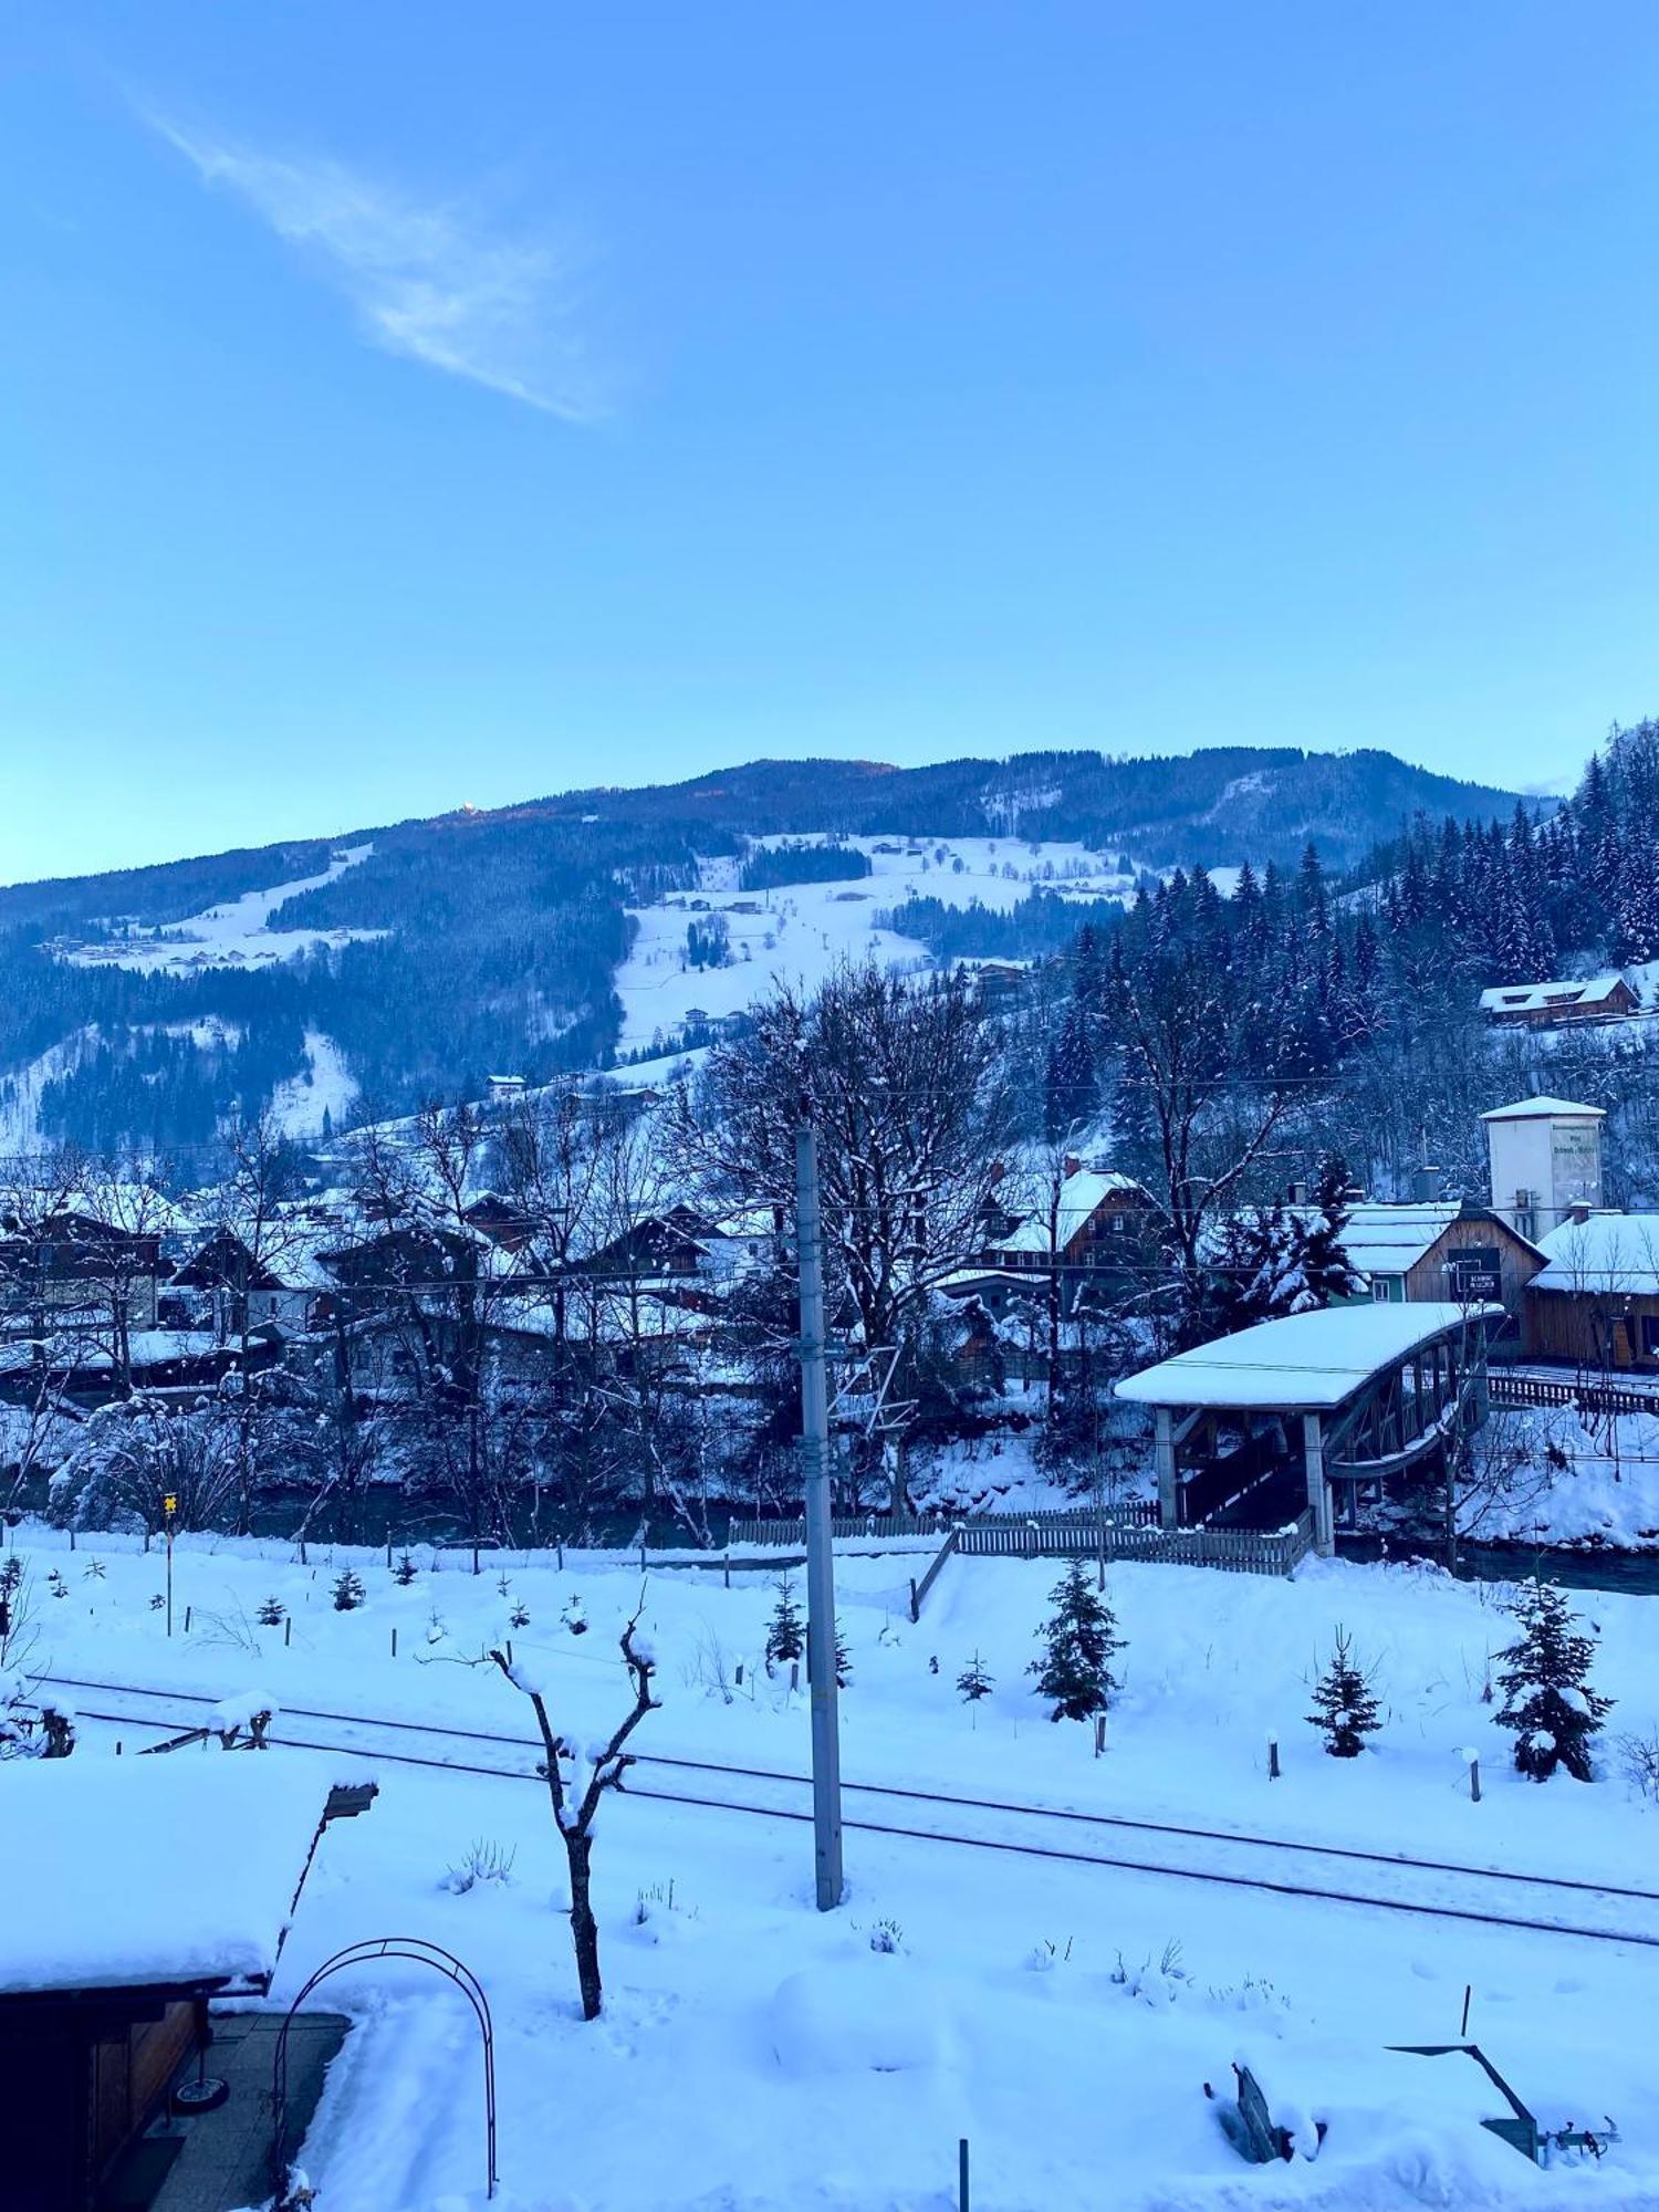
[[[841,1712],[836,1705],[836,1564],[830,1548],[830,1391],[823,1371],[823,1219],[818,1139],[794,1135],[794,1230],[801,1265],[801,1478],[807,1498],[807,1686],[812,1694],[812,1834],[818,1911],[841,1905]]]

